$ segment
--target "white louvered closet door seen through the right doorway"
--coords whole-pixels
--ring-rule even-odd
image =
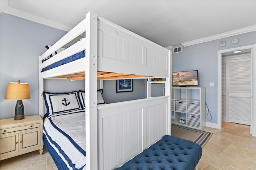
[[[228,118],[229,122],[250,125],[251,54],[228,57],[222,64],[222,118]],[[225,69],[226,76],[223,75]]]

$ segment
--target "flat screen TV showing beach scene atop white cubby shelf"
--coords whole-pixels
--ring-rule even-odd
[[[173,87],[198,86],[197,70],[173,72],[172,73],[172,86]]]

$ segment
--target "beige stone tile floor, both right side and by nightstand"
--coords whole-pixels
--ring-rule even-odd
[[[256,137],[250,126],[222,123],[222,129],[205,127],[213,132],[203,148],[199,170],[256,170]],[[50,154],[44,149],[0,161],[0,170],[57,170]]]

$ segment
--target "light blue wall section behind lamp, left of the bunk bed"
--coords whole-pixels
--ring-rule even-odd
[[[38,115],[38,56],[66,32],[0,14],[0,119],[14,117],[16,100],[4,99],[8,82],[30,85],[30,99],[23,100],[25,116]]]

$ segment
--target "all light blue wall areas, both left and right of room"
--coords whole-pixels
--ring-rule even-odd
[[[38,115],[38,55],[52,45],[66,32],[31,22],[9,14],[0,14],[0,119],[14,117],[16,101],[4,99],[8,82],[30,84],[30,99],[24,100],[25,116]],[[232,44],[233,38],[239,38],[237,44]],[[219,41],[226,40],[225,47],[219,47]],[[220,40],[182,47],[181,53],[172,55],[172,71],[198,70],[199,85],[206,87],[206,103],[211,111],[211,123],[217,123],[217,51],[245,45],[256,44],[256,32],[240,34]],[[46,91],[71,91],[84,89],[84,81],[47,80]],[[62,83],[62,88],[56,84]],[[209,83],[215,86],[210,87]],[[98,85],[99,86],[99,85]],[[68,89],[70,87],[70,89]],[[146,97],[146,81],[136,80],[134,92],[114,93],[115,81],[104,83],[104,97],[107,103],[124,101],[132,98]],[[152,96],[162,93],[161,85],[152,85]],[[158,91],[158,92],[156,92]],[[157,94],[155,94],[157,93]]]

